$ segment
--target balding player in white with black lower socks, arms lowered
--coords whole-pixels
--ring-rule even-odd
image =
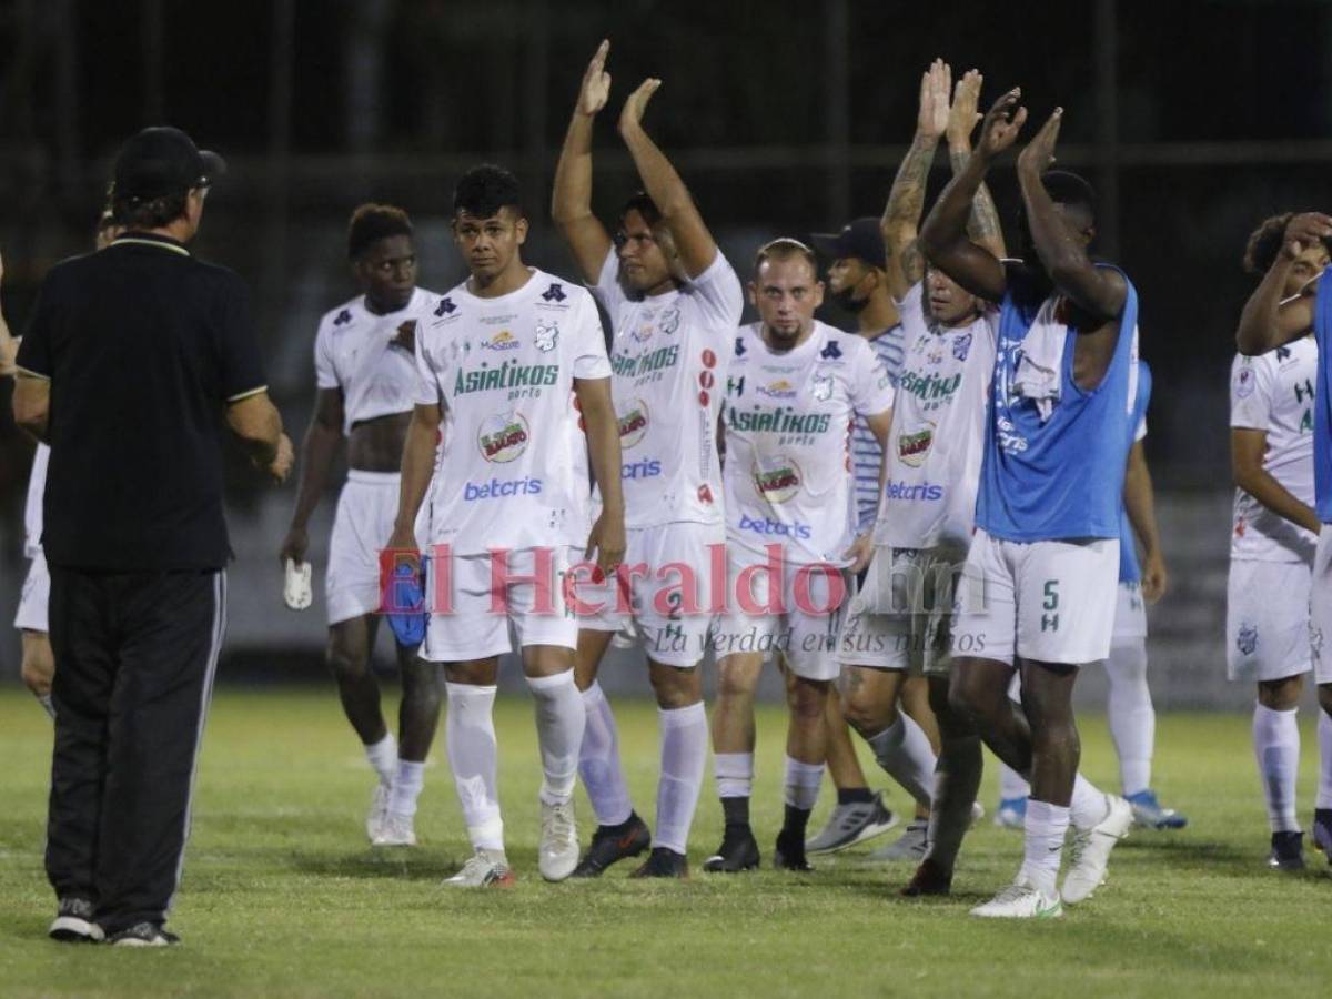
[[[754,689],[765,653],[785,653],[786,817],[773,858],[809,870],[805,829],[823,778],[825,706],[839,673],[836,634],[847,571],[868,562],[856,534],[847,428],[864,416],[880,448],[892,385],[863,337],[814,318],[818,261],[795,240],[758,252],[750,300],[761,321],[735,337],[726,378],[729,607],[717,627],[713,750],[726,834],[703,868],[759,862],[749,822],[754,779]]]

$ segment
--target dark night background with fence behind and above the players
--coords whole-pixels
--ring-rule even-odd
[[[20,332],[41,274],[91,241],[119,143],[147,124],[181,127],[232,164],[196,249],[256,289],[273,394],[298,437],[314,324],[354,290],[342,233],[360,201],[412,212],[421,282],[444,290],[464,276],[446,228],[453,181],[482,159],[506,164],[526,185],[527,258],[571,273],[547,221],[550,180],[603,36],[614,87],[598,123],[598,210],[635,186],[619,105],[659,76],[647,127],[742,272],[765,238],[882,210],[935,55],[955,76],[984,72],[983,105],[1015,84],[1036,123],[1063,105],[1059,161],[1098,185],[1098,250],[1139,288],[1158,482],[1167,500],[1228,488],[1227,372],[1252,286],[1244,241],[1271,213],[1329,208],[1332,4],[1316,0],[11,0],[0,4],[5,314]],[[991,181],[1011,236],[1010,165]],[[8,392],[0,594],[24,567],[31,450]],[[238,460],[232,480],[237,515],[277,531],[276,549],[293,489],[262,492]],[[0,674],[9,658],[0,642]]]

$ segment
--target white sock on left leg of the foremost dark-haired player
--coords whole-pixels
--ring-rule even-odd
[[[478,850],[503,852],[503,819],[496,786],[496,689],[470,683],[445,683],[444,689],[449,695],[444,741],[468,838]]]

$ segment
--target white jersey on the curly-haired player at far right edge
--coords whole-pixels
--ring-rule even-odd
[[[1313,385],[1319,349],[1301,337],[1231,365],[1231,426],[1267,433],[1263,468],[1300,502],[1313,506]],[[1317,537],[1235,490],[1231,558],[1308,562]]]

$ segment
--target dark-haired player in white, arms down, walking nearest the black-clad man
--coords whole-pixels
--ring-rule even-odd
[[[420,654],[445,663],[449,766],[476,851],[446,883],[514,880],[492,718],[510,625],[537,702],[539,870],[562,880],[578,863],[573,793],[586,718],[566,573],[583,551],[597,551],[602,574],[625,554],[610,361],[591,296],[523,264],[527,218],[511,173],[468,170],[453,210],[470,276],[417,329],[420,377],[392,538],[393,549],[416,549],[429,490],[433,613]],[[589,457],[602,498],[590,534]]]

